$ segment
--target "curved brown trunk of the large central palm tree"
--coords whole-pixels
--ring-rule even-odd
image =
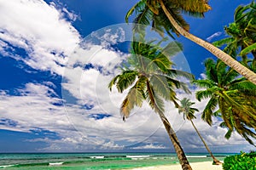
[[[154,110],[158,113],[161,121],[164,123],[164,125],[166,127],[166,132],[168,133],[169,138],[172,141],[172,145],[177,153],[177,158],[178,158],[179,163],[181,164],[183,170],[192,170],[192,167],[190,167],[190,165],[189,165],[189,161],[188,161],[187,157],[185,156],[182,146],[179,144],[176,133],[172,129],[170,122],[167,120],[165,114],[155,104],[154,94],[152,93],[152,90],[150,88],[150,84],[148,81],[147,81],[147,88],[148,88],[149,98],[154,105]]]

